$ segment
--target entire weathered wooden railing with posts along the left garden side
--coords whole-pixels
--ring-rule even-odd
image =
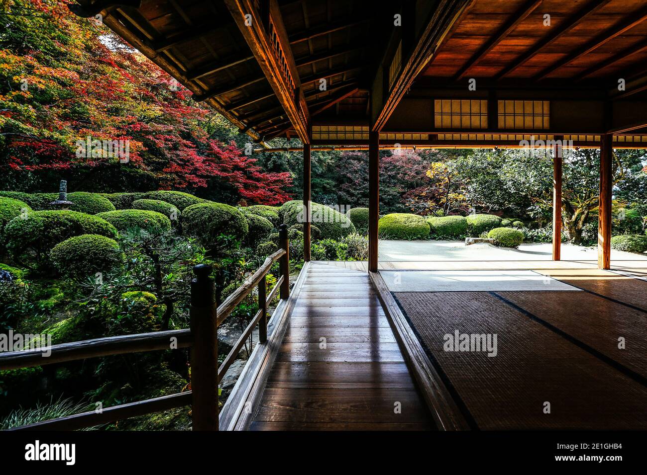
[[[267,342],[267,306],[276,297],[276,293],[279,293],[281,299],[289,297],[289,241],[285,224],[280,226],[279,239],[280,249],[265,259],[263,265],[218,308],[215,307],[214,302],[214,279],[210,277],[212,267],[199,264],[193,268],[195,279],[191,282],[190,329],[98,338],[56,344],[38,350],[0,353],[0,370],[13,370],[100,356],[191,348],[190,391],[58,417],[17,427],[14,430],[78,430],[186,405],[191,405],[192,408],[193,430],[218,430],[219,381],[229,366],[234,363],[243,344],[252,335],[257,324],[259,344]],[[280,277],[266,298],[267,273],[276,261],[279,262]],[[217,328],[256,287],[258,287],[259,310],[226,355],[223,364],[218,366]],[[43,350],[47,350],[49,356],[44,357]]]

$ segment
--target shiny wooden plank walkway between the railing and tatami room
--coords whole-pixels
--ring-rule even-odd
[[[307,269],[251,430],[435,428],[358,264]]]

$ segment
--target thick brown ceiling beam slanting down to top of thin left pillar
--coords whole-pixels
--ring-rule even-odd
[[[254,0],[225,0],[225,5],[299,138],[310,143],[308,111],[278,3],[263,3],[267,10],[262,15]]]

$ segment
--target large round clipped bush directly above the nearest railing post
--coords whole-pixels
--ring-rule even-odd
[[[185,233],[199,238],[210,246],[221,234],[245,240],[249,226],[245,215],[228,204],[205,202],[194,204],[182,211]]]

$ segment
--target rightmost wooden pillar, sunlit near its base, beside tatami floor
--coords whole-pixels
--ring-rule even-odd
[[[613,134],[602,135],[600,143],[600,200],[598,202],[598,268],[611,268],[611,188]]]

